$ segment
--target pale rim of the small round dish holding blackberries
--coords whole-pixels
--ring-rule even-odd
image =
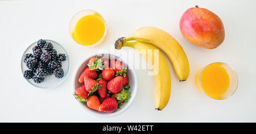
[[[61,44],[58,43],[57,41],[54,41],[54,40],[51,40],[51,39],[43,39],[43,40],[50,41],[50,42],[54,42],[54,43],[56,43],[57,45],[60,45],[60,47],[64,49],[65,53],[67,53],[67,57],[68,57],[67,59],[68,59],[68,62],[69,62],[67,75],[64,76],[64,78],[63,78],[63,80],[62,80],[61,82],[57,83],[57,84],[54,85],[54,86],[50,86],[50,87],[38,87],[38,86],[32,85],[30,82],[28,82],[27,79],[24,79],[24,80],[26,80],[30,85],[36,87],[36,89],[40,89],[40,90],[42,90],[42,89],[51,90],[51,89],[54,89],[55,87],[60,86],[60,85],[68,78],[68,75],[69,75],[70,70],[71,70],[71,60],[70,60],[70,57],[69,57],[69,55],[68,55],[67,49],[66,49],[63,45],[61,45]],[[27,50],[31,45],[36,44],[37,42],[38,42],[38,41],[35,41],[34,43],[28,45],[28,47],[26,47],[26,48],[24,49],[24,51],[23,51],[22,57],[21,57],[21,59],[20,59],[20,70],[21,70],[21,73],[22,73],[22,77],[23,77],[23,73],[24,73],[24,72],[23,72],[23,69],[22,69],[22,65],[24,64],[24,62],[23,62],[23,57],[24,57],[24,55],[26,55],[26,50]]]

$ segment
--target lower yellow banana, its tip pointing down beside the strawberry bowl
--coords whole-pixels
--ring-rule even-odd
[[[158,58],[155,58],[157,56],[154,50],[159,49],[152,44],[143,43],[139,41],[125,42],[122,44],[115,45],[115,48],[121,49],[122,47],[134,48],[142,55],[143,58],[147,60],[147,62],[154,63],[148,65],[150,65],[150,68],[154,69],[154,71],[158,71],[158,73],[156,73],[156,75],[154,76],[155,108],[156,110],[163,110],[163,108],[166,107],[166,105],[168,104],[171,96],[171,75],[170,70],[168,68],[168,64],[163,54],[160,51],[158,51]]]

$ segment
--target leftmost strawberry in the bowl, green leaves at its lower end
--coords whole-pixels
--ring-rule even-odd
[[[85,90],[85,86],[82,85],[78,87],[73,94],[77,100],[79,100],[82,104],[86,103],[86,99],[88,98],[88,91]]]

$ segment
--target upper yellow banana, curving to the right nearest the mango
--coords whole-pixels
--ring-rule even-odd
[[[155,27],[142,27],[130,36],[121,37],[115,44],[122,44],[132,40],[150,43],[162,49],[171,60],[179,80],[187,80],[189,76],[188,58],[180,44],[169,33]]]

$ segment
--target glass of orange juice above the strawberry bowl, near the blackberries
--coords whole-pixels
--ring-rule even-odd
[[[78,44],[96,47],[105,40],[107,27],[98,12],[82,10],[71,19],[69,33]]]

